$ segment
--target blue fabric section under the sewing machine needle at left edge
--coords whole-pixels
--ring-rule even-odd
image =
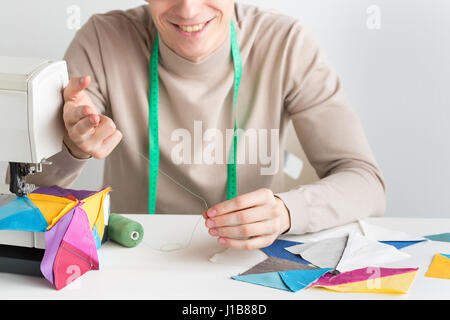
[[[0,230],[45,232],[47,227],[41,211],[28,197],[18,197],[0,207]]]

